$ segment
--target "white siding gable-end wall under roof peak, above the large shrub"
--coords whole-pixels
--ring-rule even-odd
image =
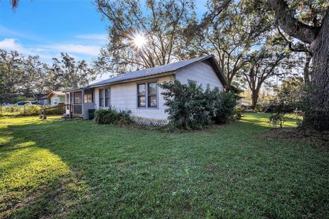
[[[198,62],[178,70],[176,73],[176,79],[184,84],[187,84],[188,80],[197,81],[197,85],[202,85],[204,89],[206,89],[209,84],[210,89],[217,87],[221,91],[224,90],[223,84],[217,77],[215,70],[205,62]]]

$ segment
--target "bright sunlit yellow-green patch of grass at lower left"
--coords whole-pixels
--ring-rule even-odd
[[[0,218],[65,218],[88,200],[86,183],[23,132],[51,123],[0,126]]]

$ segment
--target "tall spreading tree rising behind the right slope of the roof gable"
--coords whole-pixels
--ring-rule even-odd
[[[252,12],[245,0],[225,2],[225,7],[218,10],[223,2],[208,0],[208,12],[204,14],[199,25],[201,29],[195,34],[190,48],[197,53],[215,55],[231,84],[236,77],[241,77],[243,67],[247,65],[247,54],[258,47],[271,23],[265,10]],[[210,19],[214,12],[218,13]]]

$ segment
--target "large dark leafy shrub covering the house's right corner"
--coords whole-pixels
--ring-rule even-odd
[[[186,85],[177,80],[159,86],[164,89],[162,95],[170,124],[178,129],[202,129],[213,123],[226,123],[232,118],[238,98],[232,92],[210,90],[209,86],[203,90],[195,83]]]

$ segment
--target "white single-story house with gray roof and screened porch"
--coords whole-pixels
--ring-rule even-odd
[[[212,55],[204,55],[154,68],[136,70],[112,77],[84,88],[66,90],[66,104],[71,114],[88,119],[88,110],[114,107],[131,110],[135,120],[167,121],[162,89],[158,83],[171,80],[197,83],[206,88],[224,90],[228,81]],[[70,107],[66,107],[69,114]]]

